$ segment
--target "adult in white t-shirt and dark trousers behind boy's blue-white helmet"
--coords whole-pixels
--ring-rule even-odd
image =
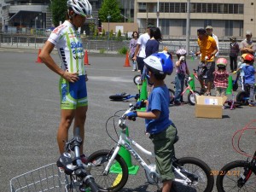
[[[135,53],[133,56],[133,60],[137,61],[137,68],[138,71],[141,72],[141,74],[143,74],[143,67],[144,67],[144,61],[143,59],[146,58],[146,44],[148,42],[148,39],[150,38],[149,36],[149,30],[150,30],[150,25],[148,25],[147,27],[147,32],[145,32],[143,35],[141,35],[138,39],[137,39],[137,48],[135,49]]]

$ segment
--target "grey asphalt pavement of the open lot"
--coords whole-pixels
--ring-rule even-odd
[[[3,192],[10,190],[11,178],[55,163],[59,157],[56,143],[60,120],[59,77],[44,64],[36,63],[37,56],[37,50],[0,49],[0,191]],[[60,61],[58,55],[53,57]],[[198,63],[190,59],[188,62],[190,69]],[[124,67],[125,56],[89,53],[89,63],[86,65],[89,78],[86,154],[112,148],[113,141],[108,137],[105,123],[113,113],[128,108],[129,102],[135,102],[133,99],[111,102],[108,96],[120,92],[137,93],[137,86],[133,84],[137,72],[132,72],[131,67]],[[166,84],[172,88],[174,76],[172,73],[166,78]],[[235,131],[255,119],[255,112],[256,108],[246,106],[224,109],[223,119],[202,119],[195,118],[195,107],[189,104],[170,107],[170,117],[177,125],[180,137],[175,146],[177,158],[197,157],[205,161],[212,171],[232,160],[246,160],[232,148],[231,138]],[[108,131],[115,137],[112,125],[108,125]],[[137,143],[152,149],[151,141],[144,134],[143,119],[130,122],[129,133]],[[253,153],[254,143],[254,132],[247,131],[242,138],[242,146],[248,153]],[[135,160],[132,162],[137,165]],[[123,191],[150,192],[155,189],[146,183],[143,169],[140,169],[137,175],[129,177]]]

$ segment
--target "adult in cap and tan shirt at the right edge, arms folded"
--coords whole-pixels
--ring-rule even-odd
[[[247,31],[246,38],[243,41],[241,41],[241,43],[239,45],[241,55],[243,55],[243,54],[254,55],[255,54],[256,46],[255,46],[255,44],[253,44],[252,37],[253,37],[252,32]]]

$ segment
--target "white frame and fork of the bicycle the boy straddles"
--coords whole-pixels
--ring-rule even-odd
[[[125,128],[127,129],[127,127]],[[133,139],[131,139],[131,137],[127,137],[125,135],[125,130],[122,130],[119,136],[119,142],[116,144],[114,150],[113,150],[113,154],[111,155],[110,160],[108,161],[108,165],[106,166],[104,173],[107,174],[110,167],[113,164],[113,160],[115,159],[116,155],[119,153],[119,149],[121,147],[124,147],[134,158],[135,160],[137,160],[137,162],[143,166],[143,169],[145,170],[145,172],[147,174],[149,174],[150,172],[152,172],[152,169],[150,168],[150,166],[148,166],[148,164],[143,160],[143,158],[137,153],[137,151],[131,147],[131,144],[133,146],[135,146],[137,149],[139,149],[139,151],[141,151],[143,154],[148,155],[148,157],[154,157],[154,153],[148,151],[147,149],[143,148],[141,145],[139,145],[138,143],[136,143]],[[181,172],[181,169],[176,168],[175,166],[172,166],[174,169],[174,172],[176,172],[180,177],[182,177],[183,179],[177,179],[175,178],[174,181],[178,182],[178,183],[182,183],[183,185],[188,185],[188,183],[190,183],[190,179],[188,177],[186,177],[185,175],[183,175],[183,173]],[[157,172],[156,176],[160,179],[160,174]]]

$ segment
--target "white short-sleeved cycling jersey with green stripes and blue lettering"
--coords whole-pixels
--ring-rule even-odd
[[[48,41],[55,44],[61,58],[61,69],[70,73],[85,74],[84,48],[79,31],[69,21],[57,26]]]

